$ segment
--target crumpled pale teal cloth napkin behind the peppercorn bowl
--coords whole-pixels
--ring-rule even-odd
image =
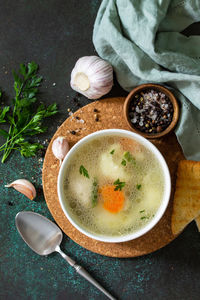
[[[181,108],[175,132],[192,160],[200,160],[200,36],[180,31],[197,21],[199,0],[103,0],[93,32],[125,90],[148,82],[173,89]]]

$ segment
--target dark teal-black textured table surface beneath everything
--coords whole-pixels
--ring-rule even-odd
[[[50,139],[67,118],[72,101],[70,73],[76,60],[95,54],[92,29],[100,0],[6,0],[0,2],[0,88],[4,102],[13,96],[11,70],[22,62],[36,61],[44,76],[40,99],[56,101],[60,113],[46,121]],[[194,25],[188,33],[199,34]],[[54,84],[55,83],[55,84]],[[115,84],[110,95],[126,95]],[[110,96],[108,95],[108,96]],[[81,106],[89,103],[80,98]],[[52,121],[53,120],[53,121]],[[4,185],[14,179],[31,180],[41,187],[42,159],[13,154],[0,165],[0,299],[105,299],[57,254],[40,257],[18,235],[14,218],[32,210],[52,219],[44,197],[29,201]],[[144,257],[114,259],[85,250],[66,236],[62,249],[82,264],[118,299],[199,299],[200,239],[192,222],[165,248]]]

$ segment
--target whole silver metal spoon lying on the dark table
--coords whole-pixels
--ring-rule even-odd
[[[31,211],[19,212],[15,217],[15,224],[22,239],[33,251],[40,255],[48,255],[55,251],[60,253],[78,274],[96,286],[109,299],[116,300],[83,267],[77,265],[73,259],[60,250],[63,234],[56,224]]]

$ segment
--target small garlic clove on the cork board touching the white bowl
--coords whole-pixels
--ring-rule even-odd
[[[53,141],[52,151],[54,156],[60,160],[60,165],[69,151],[69,143],[64,136],[59,136]]]

